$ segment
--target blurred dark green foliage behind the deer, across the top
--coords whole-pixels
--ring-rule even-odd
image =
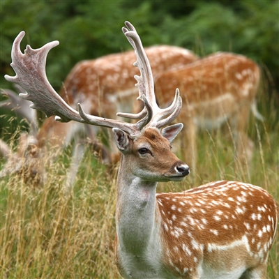
[[[278,79],[278,1],[1,1],[1,88],[11,87],[3,75],[13,74],[10,48],[24,30],[33,48],[50,40],[47,74],[59,90],[77,61],[130,48],[121,36],[129,20],[144,45],[167,43],[201,55],[232,51],[264,63]]]

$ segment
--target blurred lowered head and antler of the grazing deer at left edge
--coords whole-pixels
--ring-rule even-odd
[[[25,92],[20,86],[15,85],[17,91]],[[25,181],[32,181],[36,185],[42,183],[45,180],[45,162],[40,156],[36,139],[38,134],[36,111],[30,109],[31,102],[20,98],[15,91],[2,89],[1,93],[8,96],[8,99],[1,101],[0,107],[15,112],[17,117],[23,117],[29,123],[29,133],[20,133],[16,152],[0,139],[0,153],[6,159],[0,171],[0,178],[17,173],[21,174]]]

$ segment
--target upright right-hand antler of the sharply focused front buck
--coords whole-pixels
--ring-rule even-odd
[[[137,66],[140,69],[140,73],[141,73],[140,76],[135,75],[135,80],[137,80],[136,86],[139,89],[139,97],[137,99],[142,100],[142,96],[146,96],[147,102],[150,104],[153,112],[153,117],[151,118],[151,121],[150,123],[148,123],[148,125],[156,128],[161,128],[163,127],[163,125],[167,125],[168,123],[171,123],[181,110],[182,100],[181,97],[179,96],[179,91],[176,90],[176,94],[174,96],[174,101],[172,105],[170,105],[165,109],[160,109],[160,107],[158,107],[156,103],[156,96],[154,93],[154,83],[153,83],[151,66],[144,52],[144,48],[142,46],[140,36],[138,36],[135,27],[133,27],[133,24],[130,24],[130,22],[125,22],[125,24],[127,28],[123,27],[122,31],[125,34],[128,41],[130,42],[130,44],[135,49],[137,61],[134,63],[134,66]],[[139,114],[119,113],[117,115],[128,117],[130,119],[139,119],[145,114],[146,114],[146,108],[144,107],[142,112],[140,112]],[[169,115],[169,117],[167,117],[167,119],[165,119],[164,121],[161,121],[161,119],[163,119],[167,115]]]

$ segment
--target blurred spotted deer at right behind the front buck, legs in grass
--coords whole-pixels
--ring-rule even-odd
[[[178,121],[185,124],[183,158],[194,168],[197,131],[216,129],[222,124],[232,130],[236,157],[243,163],[252,158],[253,142],[247,135],[250,111],[259,120],[256,93],[259,90],[259,66],[245,56],[217,52],[177,70],[160,73],[155,82],[160,105],[171,102],[169,92],[179,87],[184,108]]]

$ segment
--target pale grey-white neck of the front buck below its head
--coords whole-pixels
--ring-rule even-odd
[[[125,170],[125,171],[124,171]],[[133,174],[121,159],[116,193],[116,233],[119,249],[141,257],[156,250],[158,238],[157,182]],[[158,247],[158,246],[157,246]]]

